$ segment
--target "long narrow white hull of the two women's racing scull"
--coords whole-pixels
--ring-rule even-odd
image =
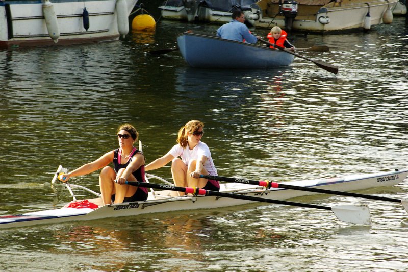
[[[375,174],[347,176],[344,178],[285,182],[282,184],[339,191],[354,191],[373,187],[394,186],[401,183],[406,178],[406,176],[408,176],[408,169],[389,172],[377,172]],[[239,183],[221,184],[221,191],[234,192],[275,200],[285,200],[293,197],[317,194],[314,192],[281,188],[272,188],[266,191],[263,187]],[[171,193],[171,191],[156,191],[155,193],[150,192],[147,201],[104,205],[95,210],[90,208],[61,208],[30,212],[22,215],[1,216],[0,228],[5,229],[38,224],[56,224],[68,221],[87,221],[110,217],[136,216],[147,213],[180,210],[214,209],[220,207],[243,205],[252,202],[247,200],[238,200],[217,196],[173,197],[167,195]]]

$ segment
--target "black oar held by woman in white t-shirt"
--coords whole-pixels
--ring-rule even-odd
[[[393,199],[391,197],[382,197],[382,196],[376,196],[376,195],[368,195],[368,194],[360,194],[360,193],[350,193],[350,192],[326,190],[326,189],[319,189],[319,188],[303,187],[303,186],[282,184],[282,183],[270,182],[270,181],[247,180],[247,179],[241,179],[241,178],[228,178],[228,177],[205,176],[205,175],[200,175],[200,178],[205,178],[205,179],[209,179],[209,180],[218,180],[218,181],[226,181],[226,182],[237,182],[237,183],[259,185],[259,186],[264,186],[264,187],[267,187],[267,188],[271,188],[271,187],[272,188],[285,188],[285,189],[292,189],[292,190],[298,190],[298,191],[308,191],[308,192],[316,192],[316,193],[327,193],[327,194],[337,194],[337,195],[345,195],[345,196],[351,196],[351,197],[360,197],[361,199],[372,199],[372,200],[399,202],[399,203],[402,204],[404,209],[406,211],[408,211],[408,198],[405,198],[405,199]]]

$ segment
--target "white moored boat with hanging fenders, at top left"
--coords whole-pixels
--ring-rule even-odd
[[[117,40],[137,0],[0,1],[0,49]]]

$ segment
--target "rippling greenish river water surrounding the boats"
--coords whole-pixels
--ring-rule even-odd
[[[50,186],[116,148],[133,123],[146,161],[166,153],[190,119],[222,176],[293,181],[361,174],[408,163],[408,28],[405,18],[369,33],[292,35],[302,52],[340,67],[333,75],[295,58],[268,70],[189,68],[175,51],[188,29],[160,21],[126,41],[0,51],[0,214],[57,208],[71,200]],[[254,33],[266,36],[267,30]],[[152,172],[171,180],[169,166]],[[75,182],[98,191],[98,173]],[[405,180],[363,193],[406,197]],[[83,196],[89,196],[83,194]],[[408,216],[394,203],[341,196],[295,201],[366,203],[373,224],[326,211],[252,204],[0,231],[0,269],[64,271],[402,271]]]

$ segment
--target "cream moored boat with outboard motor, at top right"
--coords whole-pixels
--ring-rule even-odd
[[[398,0],[260,0],[252,7],[256,27],[279,26],[286,30],[336,32],[370,29],[391,23]],[[259,13],[259,10],[261,12]]]

